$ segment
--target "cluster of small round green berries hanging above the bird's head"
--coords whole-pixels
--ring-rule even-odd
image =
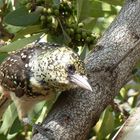
[[[90,46],[95,41],[95,35],[85,30],[84,23],[77,23],[75,1],[61,0],[59,4],[46,3],[45,0],[36,0],[36,3],[27,3],[29,10],[41,8],[40,22],[42,28],[48,29],[52,35],[65,33],[70,37],[69,47]],[[36,7],[36,9],[35,9]]]

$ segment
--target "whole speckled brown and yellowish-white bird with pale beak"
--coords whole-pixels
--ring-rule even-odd
[[[36,103],[78,86],[92,91],[84,63],[72,49],[43,42],[29,44],[0,65],[0,115],[12,99],[23,120]]]

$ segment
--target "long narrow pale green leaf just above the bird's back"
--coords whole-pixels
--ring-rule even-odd
[[[9,45],[2,46],[0,48],[0,52],[6,53],[6,52],[15,51],[17,49],[21,49],[21,48],[25,47],[27,44],[32,43],[33,41],[39,39],[39,37],[41,35],[42,35],[42,33],[28,37],[28,38],[23,38],[21,40],[14,41]]]

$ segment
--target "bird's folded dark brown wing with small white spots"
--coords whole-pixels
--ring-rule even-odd
[[[21,56],[11,55],[0,66],[0,85],[20,97],[26,92],[28,76]]]

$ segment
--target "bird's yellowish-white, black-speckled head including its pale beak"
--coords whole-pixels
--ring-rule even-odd
[[[63,90],[81,87],[92,91],[84,63],[72,49],[56,47],[47,54],[47,80]]]

